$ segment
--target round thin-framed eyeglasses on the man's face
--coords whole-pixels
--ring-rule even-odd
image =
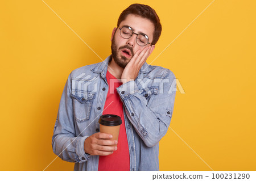
[[[146,46],[148,43],[148,36],[145,35],[144,33],[134,33],[133,29],[131,27],[127,27],[124,26],[122,28],[119,27],[120,30],[120,35],[124,38],[124,39],[129,39],[131,36],[133,36],[133,34],[137,35],[136,37],[136,42],[139,46]]]

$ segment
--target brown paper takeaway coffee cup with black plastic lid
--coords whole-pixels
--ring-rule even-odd
[[[118,140],[120,125],[122,124],[121,117],[117,115],[102,115],[98,120],[100,123],[100,132],[112,134],[111,140]]]

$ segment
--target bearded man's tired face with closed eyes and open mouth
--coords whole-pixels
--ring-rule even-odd
[[[148,36],[148,42],[152,42],[155,27],[154,24],[150,22],[150,20],[142,18],[141,16],[129,14],[127,15],[126,19],[123,20],[119,25],[120,28],[123,26],[133,28],[134,33],[146,34]],[[120,35],[121,30],[119,30],[119,27],[117,29],[114,28],[112,33],[112,56],[117,65],[121,66],[121,68],[125,68],[137,50],[142,50],[151,44],[147,44],[144,47],[138,45],[136,42],[137,35],[135,34],[133,34],[133,36],[131,36],[129,39],[124,39]],[[154,47],[154,45],[152,45],[152,47]]]

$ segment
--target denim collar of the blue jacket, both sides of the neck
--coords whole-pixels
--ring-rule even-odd
[[[102,78],[106,78],[106,72],[108,70],[108,64],[109,61],[112,60],[112,54],[108,56],[103,62],[100,62],[97,64],[97,66],[93,69],[91,69],[94,73],[100,73]],[[141,70],[139,70],[139,74],[141,73],[149,73],[150,72],[150,65],[147,64],[147,62],[144,62],[144,64],[141,67]]]

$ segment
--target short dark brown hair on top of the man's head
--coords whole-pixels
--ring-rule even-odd
[[[120,23],[123,20],[125,20],[126,16],[129,14],[141,16],[142,18],[146,18],[150,20],[154,24],[155,30],[153,34],[152,45],[155,45],[162,31],[160,19],[156,14],[155,10],[153,10],[150,6],[147,6],[147,5],[141,5],[141,4],[130,5],[129,7],[127,7],[127,9],[123,10],[121,15],[119,16],[117,27],[119,27]]]

